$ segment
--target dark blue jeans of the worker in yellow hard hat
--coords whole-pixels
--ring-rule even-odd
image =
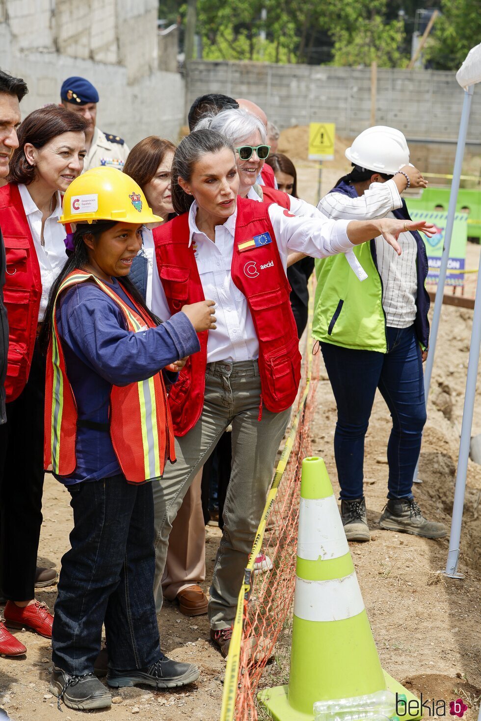
[[[123,475],[69,486],[74,528],[62,558],[53,619],[53,663],[92,673],[105,624],[119,671],[161,658],[154,603],[154,500],[150,483]]]

